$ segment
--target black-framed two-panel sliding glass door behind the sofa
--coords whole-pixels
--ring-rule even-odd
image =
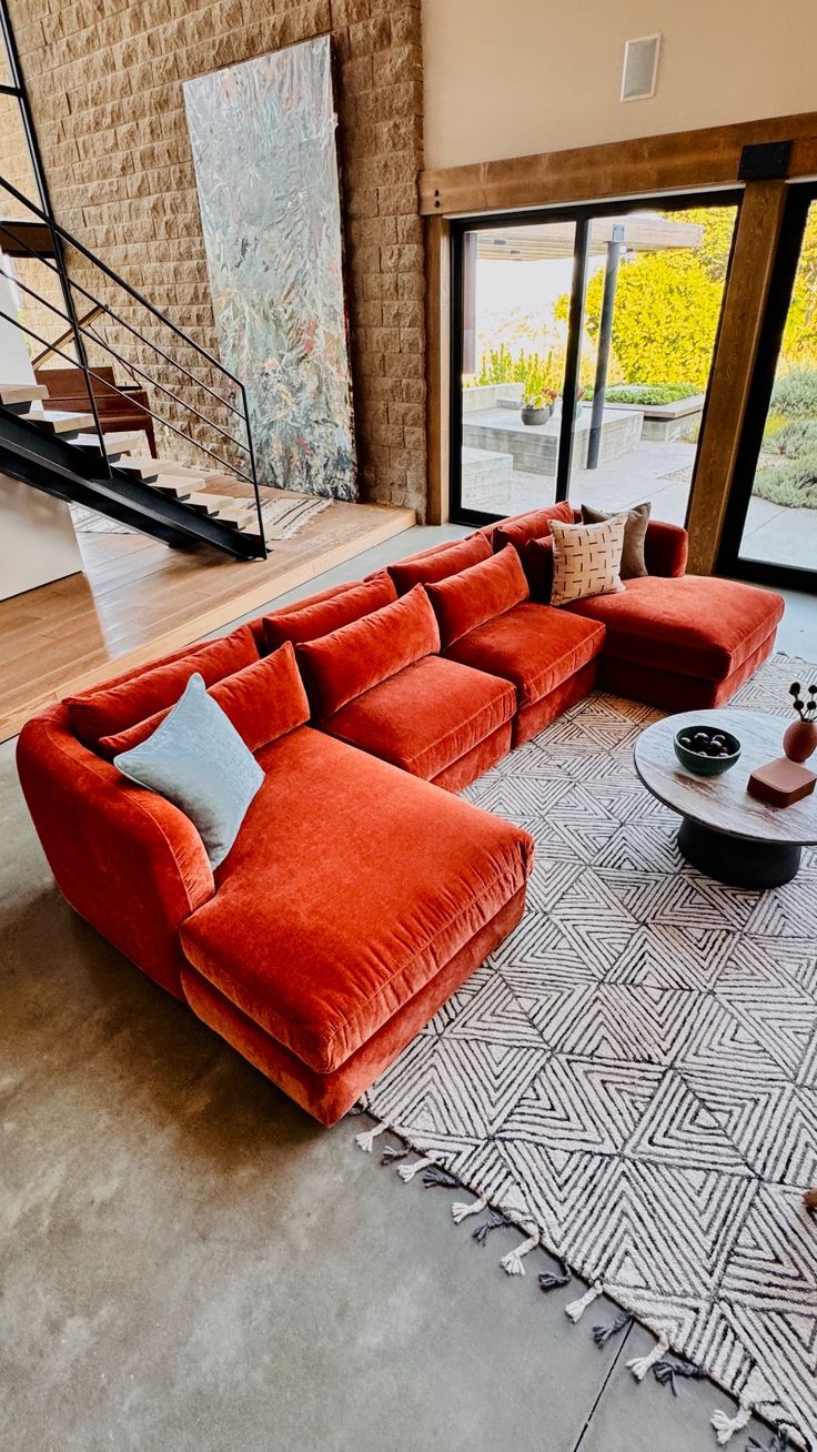
[[[451,517],[683,521],[739,195],[453,227]]]

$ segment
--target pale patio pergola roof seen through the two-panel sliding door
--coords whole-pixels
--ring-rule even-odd
[[[673,222],[650,213],[627,213],[624,216],[596,216],[591,224],[588,253],[598,257],[607,253],[607,244],[614,240],[614,228],[624,228],[625,251],[660,253],[672,247],[699,247],[704,228],[697,222]],[[476,256],[480,261],[537,263],[556,257],[572,257],[575,242],[573,222],[535,222],[530,227],[514,225],[488,228],[476,232]]]

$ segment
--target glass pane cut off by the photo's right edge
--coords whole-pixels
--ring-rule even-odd
[[[808,209],[740,556],[817,568],[816,202]]]

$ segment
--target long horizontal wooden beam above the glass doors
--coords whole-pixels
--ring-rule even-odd
[[[599,147],[430,168],[419,176],[419,211],[427,216],[453,216],[733,186],[743,147],[766,141],[794,142],[789,177],[817,171],[817,113],[805,112]]]

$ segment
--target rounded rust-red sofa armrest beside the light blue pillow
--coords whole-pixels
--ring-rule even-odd
[[[181,996],[178,925],[215,893],[196,828],[173,803],[87,751],[62,706],[23,726],[17,770],[70,905],[157,983]]]

